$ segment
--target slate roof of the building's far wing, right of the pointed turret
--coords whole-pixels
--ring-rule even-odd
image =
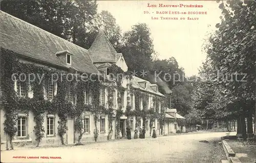
[[[146,82],[147,83],[146,88],[142,87],[139,84],[139,82]],[[141,78],[133,76],[133,78],[131,80],[131,83],[132,83],[132,87],[134,87],[134,88],[137,88],[137,89],[140,89],[142,91],[147,91],[147,92],[150,92],[151,94],[155,94],[155,95],[164,97],[164,95],[161,94],[159,91],[155,91],[154,89],[151,88],[151,83],[149,81],[146,81],[146,80],[143,80]]]

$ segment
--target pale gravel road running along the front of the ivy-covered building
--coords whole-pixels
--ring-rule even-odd
[[[1,162],[221,162],[218,144],[225,132],[161,136],[87,144],[85,146],[1,151]],[[199,141],[208,141],[201,143]],[[13,158],[13,157],[38,158]],[[46,156],[46,158],[40,158]],[[61,157],[48,159],[47,157]]]

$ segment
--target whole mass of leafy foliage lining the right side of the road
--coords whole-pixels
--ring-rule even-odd
[[[207,58],[193,93],[193,105],[202,118],[239,119],[245,137],[245,117],[252,131],[255,108],[255,2],[217,1],[222,10],[218,29],[205,43]],[[235,65],[235,66],[234,66]]]

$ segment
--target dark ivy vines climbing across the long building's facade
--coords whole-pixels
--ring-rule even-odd
[[[18,111],[26,111],[27,113],[29,111],[33,112],[34,115],[34,133],[35,133],[35,140],[37,141],[37,147],[39,146],[39,143],[41,142],[42,138],[45,135],[45,128],[44,128],[44,119],[45,114],[58,114],[59,121],[58,121],[58,135],[61,139],[61,144],[65,145],[64,141],[64,135],[67,132],[67,122],[68,122],[68,116],[74,115],[75,116],[75,122],[74,122],[74,130],[78,133],[77,137],[77,145],[82,145],[80,142],[84,129],[83,129],[83,112],[84,111],[91,111],[94,115],[94,122],[95,122],[95,131],[94,131],[94,138],[95,142],[97,142],[97,138],[99,135],[97,122],[99,122],[99,115],[100,114],[106,114],[108,115],[108,121],[109,121],[109,133],[108,133],[108,139],[111,139],[113,134],[113,121],[114,119],[117,120],[116,122],[116,130],[120,130],[120,124],[119,119],[120,117],[125,114],[127,117],[136,116],[136,126],[138,126],[138,117],[142,117],[143,120],[146,118],[150,118],[151,122],[153,122],[153,119],[157,118],[160,120],[161,124],[163,124],[163,118],[161,117],[162,114],[160,114],[157,111],[147,110],[145,108],[146,106],[146,99],[148,99],[148,96],[144,94],[143,92],[139,90],[135,90],[132,88],[131,84],[127,85],[127,88],[124,88],[122,86],[123,78],[126,76],[126,79],[131,80],[132,76],[130,74],[124,73],[120,67],[117,65],[112,65],[110,67],[110,73],[115,75],[115,80],[110,82],[108,81],[108,85],[102,85],[98,80],[88,81],[88,82],[77,82],[75,80],[70,80],[72,77],[68,77],[67,74],[74,74],[76,71],[72,68],[69,69],[55,69],[47,66],[39,66],[32,63],[24,63],[20,62],[16,58],[16,54],[12,51],[8,51],[5,49],[1,49],[1,81],[2,81],[2,96],[1,96],[1,105],[3,106],[5,110],[5,117],[6,120],[4,122],[4,131],[8,134],[10,138],[11,148],[13,149],[12,140],[15,137],[17,133],[17,112]],[[38,78],[35,78],[35,80],[31,83],[28,80],[22,80],[19,82],[23,82],[23,85],[25,86],[25,92],[26,96],[25,98],[20,98],[16,92],[15,92],[15,82],[12,80],[12,74],[17,73],[19,74],[25,74],[24,77],[28,79],[29,74],[36,73],[39,75],[44,74],[44,78],[42,78],[42,81],[39,82]],[[53,97],[51,101],[48,100],[48,94],[49,91],[49,84],[51,81],[52,74],[56,74],[55,78],[60,80],[55,80],[56,82],[52,83],[53,85],[57,85],[57,89],[55,86],[53,87],[53,91],[55,92],[56,89],[56,96]],[[79,76],[78,76],[79,78]],[[94,75],[92,78],[97,79],[98,76]],[[51,81],[52,82],[52,81]],[[91,96],[92,96],[92,102],[90,104],[85,104],[85,96],[84,91],[87,89],[91,89]],[[113,90],[117,90],[117,109],[114,109],[113,100],[110,96],[108,96],[108,107],[105,106],[99,106],[99,90],[100,87],[108,89],[108,92],[111,92]],[[32,90],[33,91],[33,98],[28,97],[28,92]],[[71,90],[71,93],[73,95],[76,95],[74,97],[73,102],[69,101],[67,99],[67,95],[69,94],[69,90]],[[124,91],[127,91],[127,106],[126,111],[123,113],[122,111],[122,95],[124,94]],[[131,104],[130,104],[130,94],[133,93],[135,95],[135,110],[132,110]],[[45,96],[46,95],[46,96]],[[140,102],[139,99],[143,99],[143,109],[140,110]],[[157,107],[158,102],[160,101],[160,98],[156,98],[157,100]],[[116,116],[114,115],[116,112]],[[144,122],[144,121],[143,121]],[[129,124],[129,123],[128,123]],[[144,124],[143,124],[144,125]],[[151,125],[152,126],[152,125]],[[118,138],[118,137],[117,137]]]

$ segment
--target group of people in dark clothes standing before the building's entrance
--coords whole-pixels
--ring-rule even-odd
[[[145,138],[145,133],[146,133],[146,130],[145,130],[145,127],[143,126],[142,128],[140,127],[139,128],[139,134],[138,134],[138,129],[135,129],[134,130],[134,139],[137,139],[137,138]],[[126,136],[127,136],[127,139],[132,139],[132,135],[131,135],[131,128],[127,127],[126,128]],[[119,129],[119,137],[122,138],[122,132],[121,130]],[[153,127],[153,134],[152,134],[152,137],[153,138],[156,138],[157,137],[157,133],[156,133],[156,129],[155,127]]]

